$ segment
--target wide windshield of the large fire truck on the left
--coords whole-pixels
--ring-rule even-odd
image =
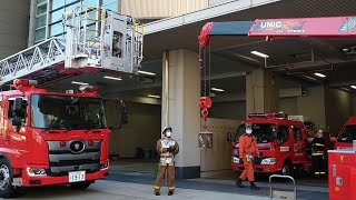
[[[103,129],[101,99],[68,96],[31,96],[31,126],[38,129]]]

